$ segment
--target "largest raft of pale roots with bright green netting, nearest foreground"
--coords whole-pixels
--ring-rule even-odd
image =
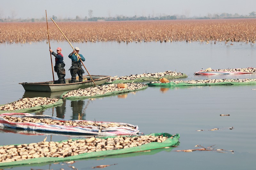
[[[179,134],[153,133],[145,136],[91,137],[65,141],[0,146],[0,167],[63,162],[150,151],[177,145]],[[139,153],[138,153],[139,154]]]

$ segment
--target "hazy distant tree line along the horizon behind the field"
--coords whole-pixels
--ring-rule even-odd
[[[0,22],[44,22],[45,18],[28,18],[28,19],[16,19],[14,18],[16,16],[12,13],[12,17],[8,18],[2,18],[0,15]],[[256,18],[256,12],[252,11],[249,13],[249,15],[239,15],[238,13],[233,14],[228,14],[228,13],[221,13],[219,14],[208,14],[207,16],[204,17],[187,17],[186,15],[165,15],[165,16],[157,16],[157,17],[152,17],[152,16],[132,16],[132,17],[126,17],[123,15],[118,15],[116,17],[93,17],[93,11],[89,10],[88,11],[88,16],[85,16],[84,18],[79,17],[78,15],[76,18],[58,18],[57,16],[53,15],[52,18],[54,21],[59,21],[59,22],[67,22],[67,21],[136,21],[136,20],[175,20],[175,19],[228,19],[228,18]],[[49,19],[50,19],[49,18]]]

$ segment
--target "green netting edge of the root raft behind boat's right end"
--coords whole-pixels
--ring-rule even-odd
[[[173,78],[187,78],[188,76],[186,74],[183,74],[182,76],[170,76],[170,75],[166,75],[164,77],[141,77],[141,78],[136,78],[134,80],[114,80],[112,82],[106,82],[109,84],[118,84],[118,83],[136,83],[136,82],[143,82],[143,81],[158,81],[161,78],[167,78],[167,79],[173,79]]]

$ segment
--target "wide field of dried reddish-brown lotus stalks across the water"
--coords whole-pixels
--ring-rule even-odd
[[[256,19],[58,22],[71,42],[225,41],[255,43]],[[50,41],[66,41],[48,22]],[[48,41],[46,22],[0,23],[0,43]]]

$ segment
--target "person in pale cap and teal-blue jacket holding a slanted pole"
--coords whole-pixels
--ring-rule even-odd
[[[79,77],[79,81],[83,81],[83,73],[84,73],[80,59],[82,61],[85,61],[85,58],[82,54],[79,54],[80,49],[78,47],[75,47],[74,49],[75,50],[68,55],[68,57],[71,58],[72,60],[71,67],[69,69],[71,74],[71,83],[74,83],[76,81],[76,74]],[[78,55],[76,55],[76,53]]]

